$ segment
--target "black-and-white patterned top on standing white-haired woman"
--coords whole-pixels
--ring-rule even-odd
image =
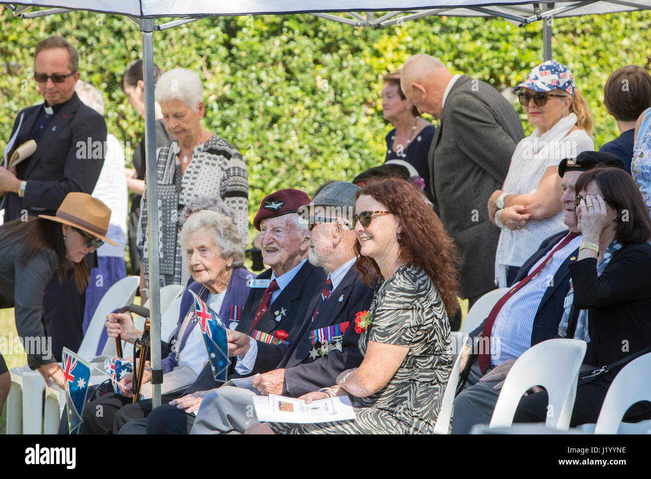
[[[171,141],[156,152],[158,179],[158,240],[160,245],[160,285],[182,284],[189,280],[185,255],[178,244],[178,214],[199,196],[219,196],[233,211],[235,225],[242,235],[243,247],[249,244],[249,181],[242,154],[224,139],[212,135],[197,145],[192,159],[181,175],[176,156],[177,141]],[[146,185],[145,185],[146,188]],[[137,248],[148,285],[147,196],[141,199]]]

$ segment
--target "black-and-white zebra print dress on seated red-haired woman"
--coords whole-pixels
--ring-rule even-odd
[[[270,423],[280,434],[415,434],[434,429],[452,370],[450,325],[432,280],[403,265],[376,287],[368,310],[372,324],[359,338],[409,347],[389,383],[372,396],[350,396],[354,421],[320,424]]]

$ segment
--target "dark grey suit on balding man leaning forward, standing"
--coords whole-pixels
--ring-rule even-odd
[[[432,191],[454,238],[464,298],[495,289],[499,229],[488,198],[502,188],[525,134],[518,113],[491,85],[462,75],[450,89],[430,147]]]

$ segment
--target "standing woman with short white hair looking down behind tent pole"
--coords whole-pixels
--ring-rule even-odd
[[[249,209],[246,165],[242,154],[230,143],[201,126],[204,116],[203,87],[199,76],[185,68],[174,68],[156,83],[156,101],[163,122],[174,137],[156,154],[158,178],[158,239],[161,286],[187,283],[178,244],[178,212],[198,196],[214,195],[232,210],[242,246],[249,242]],[[145,187],[146,188],[146,187]],[[148,297],[147,199],[143,194],[138,227],[141,298]],[[146,287],[145,287],[146,286]]]

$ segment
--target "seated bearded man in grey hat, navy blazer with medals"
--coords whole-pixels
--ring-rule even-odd
[[[356,259],[353,246],[357,239],[350,216],[358,190],[359,186],[352,183],[333,182],[299,209],[312,231],[309,261],[324,267],[328,276],[303,310],[299,334],[294,336],[284,357],[268,372],[258,368],[262,374],[253,379],[258,394],[298,398],[333,385],[342,371],[361,364],[355,313],[368,309],[373,289],[361,281],[359,272],[353,268]],[[170,405],[167,411],[154,410],[147,431],[185,433],[194,424],[192,433],[243,433],[256,421],[247,414],[253,396],[255,393],[250,390],[228,384],[210,392],[185,396],[174,404],[186,407],[186,413],[199,410],[196,420],[191,414],[184,414],[186,418],[178,417],[178,413],[170,414],[173,407]],[[174,415],[180,422],[174,422]]]

